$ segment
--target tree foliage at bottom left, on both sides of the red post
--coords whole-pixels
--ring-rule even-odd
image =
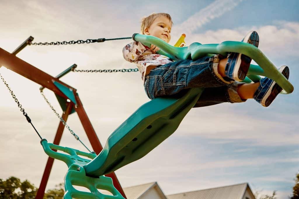
[[[55,189],[49,189],[43,199],[61,199],[64,195],[63,183],[56,185]],[[34,199],[37,188],[29,181],[20,181],[11,176],[6,180],[0,178],[0,199]]]

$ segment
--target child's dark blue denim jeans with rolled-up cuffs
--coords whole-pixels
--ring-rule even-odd
[[[246,101],[237,93],[238,85],[243,83],[222,78],[218,73],[220,56],[203,57],[196,61],[175,61],[154,68],[144,82],[147,96],[154,99],[166,95],[180,95],[185,89],[204,87],[205,90],[194,107]]]

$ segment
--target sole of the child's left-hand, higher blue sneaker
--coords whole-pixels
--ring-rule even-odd
[[[255,31],[251,31],[249,32],[243,41],[247,41],[246,43],[254,45],[255,47],[259,46],[259,35],[257,34],[257,32]],[[248,63],[244,63],[244,59],[248,59]],[[239,53],[237,61],[236,61],[236,65],[239,66],[238,70],[234,70],[233,73],[233,77],[236,81],[243,81],[247,75],[248,69],[250,67],[250,62],[251,62],[251,58],[246,56],[246,55],[242,55],[241,53]]]

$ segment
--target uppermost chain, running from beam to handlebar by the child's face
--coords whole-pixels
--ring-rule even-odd
[[[104,42],[104,41],[110,41],[110,40],[120,40],[120,39],[132,39],[132,37],[121,37],[121,38],[112,38],[112,39],[105,39],[105,38],[99,38],[99,39],[86,39],[85,41],[84,40],[77,40],[77,41],[56,41],[56,42],[39,42],[39,43],[29,43],[29,45],[60,45],[60,44],[64,44],[64,45],[67,45],[67,44],[89,44],[89,43],[95,43],[95,42]]]

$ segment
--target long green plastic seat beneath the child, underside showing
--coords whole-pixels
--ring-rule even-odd
[[[175,132],[203,90],[193,88],[182,97],[156,98],[142,105],[109,136],[100,154],[83,166],[86,175],[104,175],[144,157]]]

